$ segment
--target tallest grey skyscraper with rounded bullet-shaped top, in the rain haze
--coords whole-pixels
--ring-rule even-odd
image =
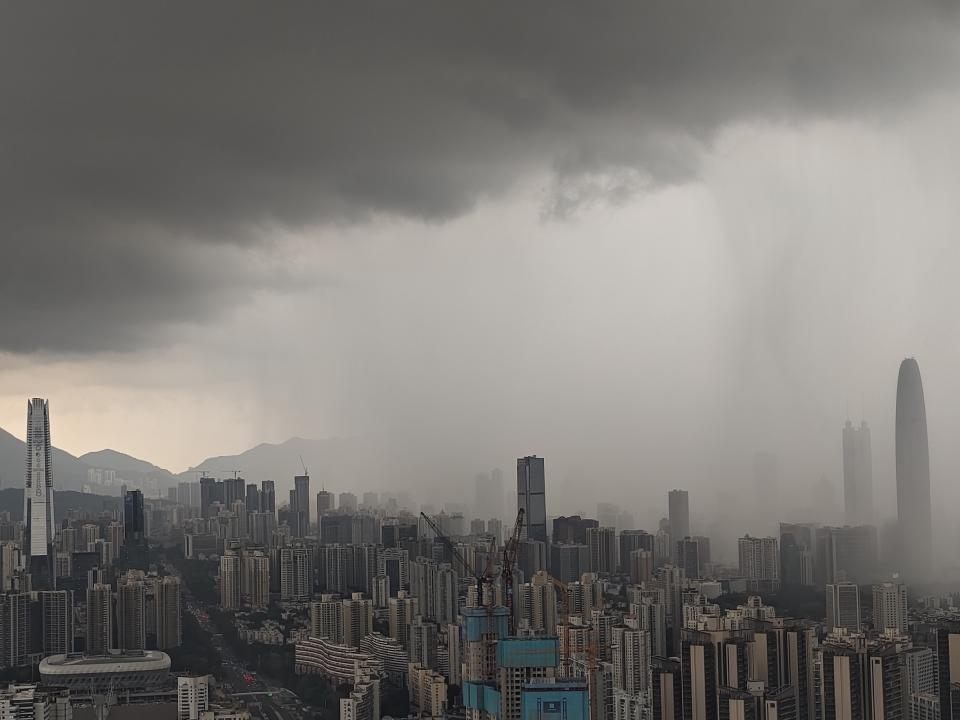
[[[897,518],[903,553],[900,567],[905,575],[923,579],[929,576],[933,559],[930,453],[923,382],[913,358],[900,363],[896,434]]]

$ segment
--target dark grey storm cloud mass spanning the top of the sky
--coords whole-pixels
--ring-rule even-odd
[[[0,347],[132,348],[203,320],[287,281],[243,254],[269,228],[443,220],[543,172],[562,217],[689,180],[731,122],[888,112],[952,82],[956,20],[832,0],[4,3]]]

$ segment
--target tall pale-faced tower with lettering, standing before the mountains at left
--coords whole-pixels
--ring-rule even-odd
[[[53,455],[50,407],[46,400],[27,403],[27,472],[23,492],[26,521],[24,560],[34,582],[53,587]],[[42,580],[41,580],[42,579]]]

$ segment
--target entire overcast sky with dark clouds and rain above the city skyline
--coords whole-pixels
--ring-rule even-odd
[[[915,356],[960,500],[952,3],[0,7],[15,434],[40,395],[175,471],[363,436],[450,495],[537,453],[551,513],[646,518],[758,451],[839,488],[863,417],[891,514]]]

